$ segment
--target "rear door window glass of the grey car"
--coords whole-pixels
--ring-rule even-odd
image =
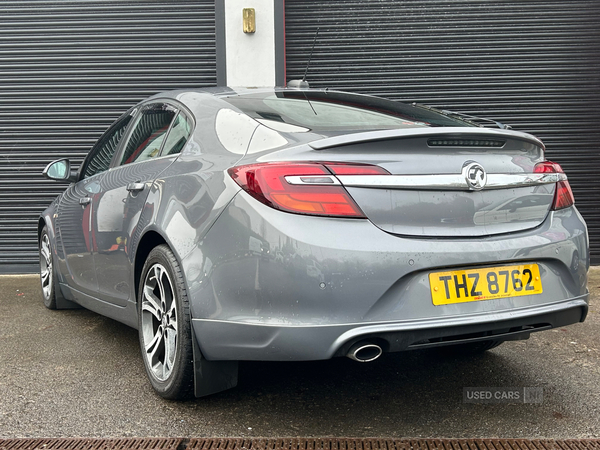
[[[153,103],[142,109],[120,164],[145,161],[158,156],[176,112],[175,108],[164,103]]]

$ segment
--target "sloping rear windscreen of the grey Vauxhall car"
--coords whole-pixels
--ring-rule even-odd
[[[425,108],[341,92],[281,91],[223,100],[283,132],[473,126]]]

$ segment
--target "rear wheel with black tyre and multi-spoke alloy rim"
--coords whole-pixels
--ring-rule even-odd
[[[138,292],[140,347],[154,390],[163,398],[190,398],[194,365],[189,300],[181,268],[166,245],[154,248]]]

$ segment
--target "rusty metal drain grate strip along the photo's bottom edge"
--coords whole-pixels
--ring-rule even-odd
[[[0,450],[600,450],[600,439],[0,439]]]

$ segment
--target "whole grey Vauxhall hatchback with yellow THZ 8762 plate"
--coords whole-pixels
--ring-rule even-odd
[[[537,138],[376,97],[180,90],[119,118],[39,221],[44,303],[139,330],[165,398],[238,361],[484,351],[581,322],[588,235]]]

